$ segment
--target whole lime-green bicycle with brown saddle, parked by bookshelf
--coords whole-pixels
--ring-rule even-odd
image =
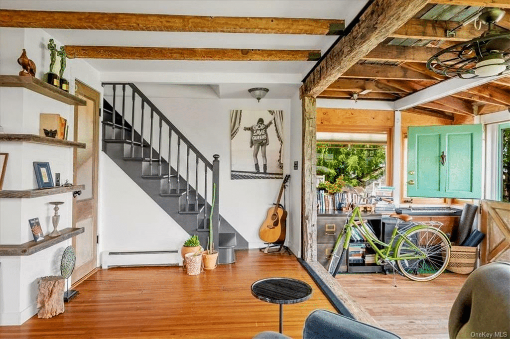
[[[370,245],[375,252],[377,265],[389,264],[398,273],[415,281],[429,281],[443,273],[450,260],[451,243],[446,234],[437,228],[441,223],[432,221],[418,224],[412,222],[413,217],[409,215],[392,214],[390,217],[397,218],[397,225],[389,244],[386,244],[377,239],[371,227],[363,221],[360,203],[366,198],[355,190],[351,191],[359,199],[350,215],[347,215],[346,224],[335,242],[328,263],[329,274],[336,276],[354,228],[362,234],[368,243],[367,247]],[[399,227],[402,221],[406,225]]]

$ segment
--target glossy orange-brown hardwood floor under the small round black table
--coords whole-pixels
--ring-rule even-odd
[[[335,311],[294,256],[237,251],[237,262],[189,276],[181,267],[99,270],[51,319],[3,326],[0,338],[251,338],[278,331],[278,305],[254,298],[253,281],[287,276],[308,282],[310,300],[284,305],[284,333],[300,338],[308,314]]]

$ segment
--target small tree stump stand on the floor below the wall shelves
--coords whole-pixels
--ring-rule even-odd
[[[39,280],[37,294],[37,316],[48,319],[64,312],[64,286],[62,276],[47,276]]]

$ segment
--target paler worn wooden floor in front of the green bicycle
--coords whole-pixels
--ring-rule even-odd
[[[443,273],[427,282],[393,274],[339,274],[337,281],[379,327],[402,339],[448,339],[450,308],[467,275]]]

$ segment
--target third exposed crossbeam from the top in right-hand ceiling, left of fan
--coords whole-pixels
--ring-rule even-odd
[[[426,63],[427,60],[441,51],[438,47],[421,47],[421,46],[397,46],[379,44],[370,51],[363,59],[373,61],[396,61],[396,62],[421,62]]]

